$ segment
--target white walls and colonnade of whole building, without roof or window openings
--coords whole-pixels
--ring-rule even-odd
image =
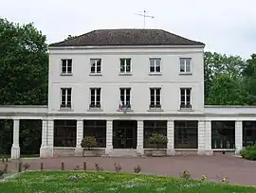
[[[11,158],[20,157],[19,120],[42,120],[41,157],[81,155],[83,120],[106,120],[106,155],[144,155],[145,120],[165,120],[168,155],[212,154],[243,148],[243,121],[256,121],[255,107],[204,105],[204,61],[200,46],[51,47],[47,106],[2,106],[0,118],[13,119]],[[160,73],[150,73],[150,59],[160,59]],[[180,59],[191,59],[191,72],[180,73]],[[62,60],[72,60],[70,75],[62,75]],[[91,59],[101,59],[101,73],[91,74]],[[131,59],[131,72],[120,74],[120,59]],[[131,88],[131,109],[119,110],[119,88]],[[61,108],[62,88],[71,88],[71,107]],[[101,88],[101,108],[90,109],[90,88]],[[150,88],[160,88],[160,108],[150,109]],[[181,109],[181,88],[191,89],[191,108]],[[66,99],[66,98],[65,98]],[[54,121],[76,120],[75,147],[54,147]],[[135,149],[115,149],[115,120],[136,120]],[[196,149],[175,148],[175,121],[197,121]],[[212,149],[212,121],[234,121],[235,147]]]

